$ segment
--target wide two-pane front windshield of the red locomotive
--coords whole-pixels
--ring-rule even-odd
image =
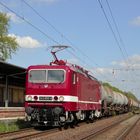
[[[63,83],[64,70],[31,70],[29,82],[33,83]]]

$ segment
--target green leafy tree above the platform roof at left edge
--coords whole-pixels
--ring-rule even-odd
[[[7,14],[0,12],[0,57],[4,60],[18,49],[16,38],[8,36],[9,21]]]

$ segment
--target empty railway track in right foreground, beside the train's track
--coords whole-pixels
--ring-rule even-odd
[[[135,118],[133,118],[133,117],[135,117]],[[133,122],[131,122],[131,124],[125,126],[124,122],[126,124],[128,124],[130,119],[133,119]],[[138,121],[140,121],[140,116],[138,116],[138,115],[137,115],[137,117],[131,116],[131,117],[128,117],[127,119],[123,118],[123,119],[119,120],[118,122],[115,122],[111,125],[102,127],[101,129],[98,129],[97,131],[93,131],[92,134],[81,138],[81,140],[98,140],[98,139],[103,139],[103,138],[104,138],[104,140],[111,140],[111,139],[124,140],[125,137],[129,134],[129,132],[131,132],[131,130],[134,128],[134,126],[137,124]],[[123,123],[123,125],[120,125],[122,123]],[[121,128],[120,128],[120,126],[121,126]],[[118,130],[121,129],[121,131],[117,132],[117,129]],[[116,134],[112,133],[113,131]],[[111,136],[111,133],[113,136]]]

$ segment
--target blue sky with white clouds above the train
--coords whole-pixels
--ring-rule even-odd
[[[60,59],[140,99],[139,5],[139,0],[0,0],[0,11],[10,17],[8,35],[20,46],[8,62],[25,68],[49,64],[50,46],[67,45]]]

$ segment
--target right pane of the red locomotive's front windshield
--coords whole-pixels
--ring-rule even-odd
[[[48,83],[63,83],[64,71],[63,70],[48,70],[47,82]]]

